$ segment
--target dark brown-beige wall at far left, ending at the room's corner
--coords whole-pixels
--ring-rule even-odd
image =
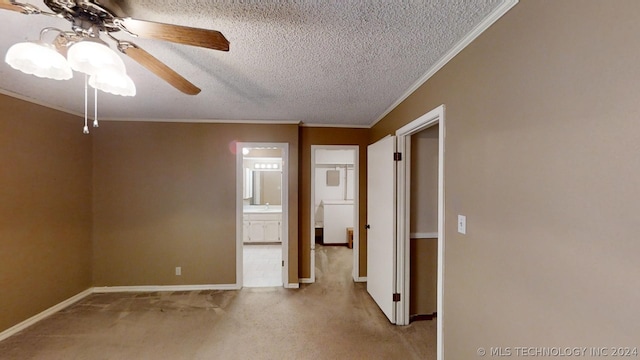
[[[0,95],[0,332],[91,286],[91,137]]]

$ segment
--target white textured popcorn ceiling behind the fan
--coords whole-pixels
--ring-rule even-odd
[[[118,33],[202,92],[184,95],[125,57],[137,95],[100,93],[100,118],[350,126],[379,120],[505,5],[502,0],[114,2],[133,18],[219,30],[231,45],[220,52]],[[41,1],[29,3],[46,8]],[[1,54],[16,42],[37,39],[43,27],[70,29],[66,20],[3,10],[0,22]],[[2,62],[0,89],[83,113],[80,73],[68,81],[40,79]]]

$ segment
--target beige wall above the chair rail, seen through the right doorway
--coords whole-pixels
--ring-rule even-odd
[[[438,129],[411,136],[410,232],[438,232]]]

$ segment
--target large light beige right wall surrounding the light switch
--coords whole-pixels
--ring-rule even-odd
[[[446,358],[638,346],[639,12],[521,1],[372,130],[446,105]]]

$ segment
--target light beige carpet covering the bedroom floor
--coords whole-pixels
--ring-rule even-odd
[[[435,359],[436,323],[394,326],[317,249],[300,289],[94,294],[0,342],[0,359]]]

